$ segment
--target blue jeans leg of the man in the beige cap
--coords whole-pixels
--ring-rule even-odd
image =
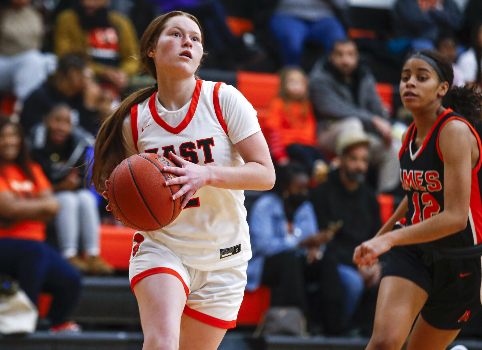
[[[363,283],[362,275],[353,267],[338,264],[336,268],[340,276],[341,284],[346,291],[345,315],[343,318],[345,321],[344,323],[348,324],[353,312],[355,312],[360,298],[362,298],[365,285]]]

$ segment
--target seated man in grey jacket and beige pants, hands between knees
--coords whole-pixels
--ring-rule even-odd
[[[378,167],[377,189],[390,192],[397,188],[402,143],[392,138],[390,123],[382,117],[375,78],[368,67],[359,64],[356,44],[337,41],[328,60],[321,57],[309,77],[315,115],[325,121],[318,135],[321,151],[333,154],[343,130],[369,131],[370,161]]]

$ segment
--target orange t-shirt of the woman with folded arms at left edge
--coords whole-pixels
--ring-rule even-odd
[[[32,163],[30,171],[35,178],[33,183],[17,165],[3,167],[0,173],[0,192],[13,192],[18,198],[35,198],[40,192],[52,188],[50,181],[45,176],[42,168],[37,163]],[[23,220],[15,222],[11,227],[0,229],[0,238],[45,240],[45,223],[42,221]]]

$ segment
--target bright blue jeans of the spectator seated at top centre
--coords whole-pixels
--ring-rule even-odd
[[[330,52],[336,40],[347,36],[345,28],[336,17],[310,22],[284,14],[274,14],[269,26],[281,45],[285,65],[299,65],[306,39],[316,39]]]

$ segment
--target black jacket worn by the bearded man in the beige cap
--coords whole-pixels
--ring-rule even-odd
[[[340,180],[338,169],[332,171],[328,181],[316,187],[311,194],[320,229],[330,221],[343,221],[343,226],[327,244],[338,262],[350,266],[356,246],[375,236],[382,226],[380,208],[375,191],[362,183],[355,191],[348,191]]]

